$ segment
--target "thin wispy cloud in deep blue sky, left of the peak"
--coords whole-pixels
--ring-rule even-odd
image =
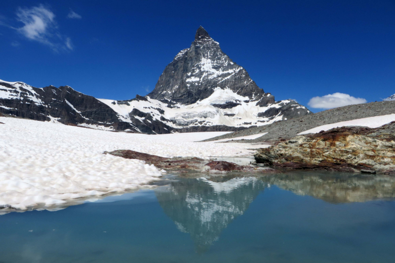
[[[24,26],[14,29],[22,36],[48,45],[55,52],[73,49],[71,39],[59,33],[55,14],[42,4],[32,8],[19,7],[16,16]]]

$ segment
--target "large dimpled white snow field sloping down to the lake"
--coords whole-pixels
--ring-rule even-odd
[[[103,154],[136,150],[159,156],[251,155],[248,144],[198,143],[225,134],[116,133],[0,117],[0,207],[21,210],[138,188],[162,175],[144,161]]]

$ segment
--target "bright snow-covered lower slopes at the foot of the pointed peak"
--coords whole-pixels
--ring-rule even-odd
[[[269,104],[266,107],[257,107],[256,102],[251,102],[248,97],[243,97],[230,89],[215,88],[214,92],[206,99],[193,104],[166,103],[165,101],[147,97],[145,101],[113,101],[99,99],[112,108],[120,119],[126,121],[134,113],[135,118],[141,122],[147,121],[147,115],[153,120],[161,121],[173,128],[193,126],[226,125],[234,127],[249,127],[251,125],[270,124],[283,119],[282,113],[274,116],[265,116],[262,112],[279,109],[291,101],[281,101]],[[220,108],[222,105],[234,103],[232,108]],[[292,111],[299,112],[303,106],[291,104]],[[303,107],[303,109],[305,109]],[[140,114],[139,114],[140,113]],[[140,116],[139,116],[140,115]],[[152,120],[150,120],[152,121]]]

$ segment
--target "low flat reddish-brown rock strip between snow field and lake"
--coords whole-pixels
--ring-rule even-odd
[[[184,173],[187,170],[195,170],[209,173],[228,173],[228,172],[257,172],[257,173],[276,173],[275,169],[257,167],[252,165],[237,165],[226,161],[207,161],[197,157],[161,157],[134,150],[114,150],[105,151],[105,154],[112,154],[126,159],[139,159],[148,164],[155,165],[158,169],[171,172]]]

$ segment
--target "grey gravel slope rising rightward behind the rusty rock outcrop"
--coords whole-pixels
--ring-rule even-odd
[[[266,141],[276,141],[279,139],[292,138],[300,132],[310,130],[321,125],[366,117],[388,115],[393,113],[395,113],[395,101],[371,102],[365,104],[349,105],[322,111],[319,113],[305,115],[299,118],[277,121],[269,125],[248,128],[242,131],[210,138],[205,140],[204,142],[227,138],[232,139],[235,137],[248,136],[264,132],[267,132],[267,134],[254,140],[234,140],[232,142],[259,143]]]

